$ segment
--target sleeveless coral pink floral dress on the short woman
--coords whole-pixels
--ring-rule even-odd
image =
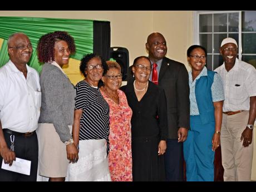
[[[104,91],[102,96],[110,106],[110,152],[109,170],[112,181],[132,181],[131,116],[132,110],[125,93],[119,93],[119,104],[111,100]]]

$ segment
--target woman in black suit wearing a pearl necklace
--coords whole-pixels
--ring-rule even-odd
[[[125,92],[131,117],[132,178],[134,181],[165,180],[164,156],[167,137],[167,112],[164,90],[149,81],[148,57],[135,58],[135,80],[121,90]]]

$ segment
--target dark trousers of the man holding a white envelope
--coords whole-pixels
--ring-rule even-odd
[[[4,132],[4,139],[7,146],[11,146],[11,134]],[[37,165],[38,165],[38,141],[36,132],[29,137],[23,135],[15,135],[14,152],[16,157],[31,161],[30,175],[24,175],[13,171],[0,168],[0,181],[36,181]],[[3,158],[0,155],[0,165],[2,166]]]

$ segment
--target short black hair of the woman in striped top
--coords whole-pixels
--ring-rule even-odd
[[[102,66],[103,66],[103,75],[105,75],[107,73],[107,70],[109,70],[109,67],[107,67],[107,63],[105,61],[104,58],[102,58],[100,55],[97,55],[96,53],[89,53],[85,56],[83,56],[83,58],[81,59],[81,63],[80,63],[80,71],[83,74],[83,76],[86,77],[86,66],[87,63],[92,59],[92,58],[99,58],[101,60]]]

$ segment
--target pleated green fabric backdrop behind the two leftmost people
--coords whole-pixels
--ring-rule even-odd
[[[29,37],[33,53],[28,65],[41,72],[42,66],[37,60],[36,47],[39,38],[53,31],[67,31],[76,43],[76,54],[71,56],[81,60],[82,56],[93,52],[93,21],[83,19],[0,17],[0,38],[3,44],[0,50],[0,67],[9,60],[7,40],[12,33],[22,32]]]

